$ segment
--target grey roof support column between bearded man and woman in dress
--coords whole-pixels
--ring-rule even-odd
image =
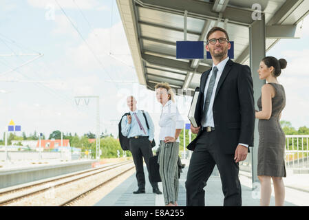
[[[257,99],[261,95],[261,88],[265,84],[265,80],[259,80],[257,69],[262,58],[266,56],[265,51],[265,14],[261,13],[260,17],[253,22],[249,28],[249,47],[250,47],[250,67],[253,78],[253,89],[255,99],[255,109],[257,108]],[[259,179],[257,178],[257,151],[259,147],[259,132],[257,130],[258,120],[255,119],[254,147],[251,151],[251,169],[253,190],[257,188]]]

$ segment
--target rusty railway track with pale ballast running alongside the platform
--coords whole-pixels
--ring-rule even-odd
[[[132,164],[132,165],[129,166],[129,164]],[[129,168],[127,166],[129,166]],[[93,179],[96,176],[105,175],[105,173],[109,173],[109,175],[111,175],[110,173],[112,173],[111,177],[108,177],[107,179],[105,179],[105,181],[100,182],[100,184],[96,184],[96,186],[92,186],[91,188],[88,188],[87,190],[83,190],[82,193],[76,192],[74,197],[70,196],[70,199],[66,198],[65,202],[61,201],[58,204],[56,204],[56,206],[65,206],[67,204],[72,203],[73,201],[80,198],[81,196],[86,195],[88,192],[91,192],[92,190],[95,190],[96,188],[100,188],[100,186],[103,186],[107,182],[112,181],[116,177],[126,173],[128,170],[131,170],[134,167],[135,166],[133,162],[130,160],[127,162],[109,164],[107,166],[102,166],[99,168],[92,168],[89,170],[84,170],[81,172],[76,172],[73,174],[56,177],[54,179],[48,179],[46,181],[40,181],[39,183],[32,184],[29,186],[23,186],[21,188],[1,190],[0,191],[0,206],[8,206],[11,203],[16,203],[17,201],[20,201],[21,199],[27,199],[28,197],[41,195],[43,192],[46,192],[47,190],[51,190],[51,189],[56,190],[56,188],[61,188],[61,186],[65,186],[69,188],[70,184],[74,184],[78,181],[85,181],[86,179],[91,179],[91,178]],[[116,170],[120,170],[120,171],[117,172]],[[87,188],[87,186],[83,186],[83,188],[84,187]],[[49,206],[49,204],[46,204],[45,206]]]

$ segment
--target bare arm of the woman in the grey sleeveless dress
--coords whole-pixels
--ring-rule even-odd
[[[271,98],[273,94],[273,87],[265,84],[262,87],[262,111],[255,112],[255,118],[269,120],[271,116]]]

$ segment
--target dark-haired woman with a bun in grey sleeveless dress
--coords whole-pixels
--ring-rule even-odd
[[[286,60],[266,56],[259,64],[260,80],[267,83],[262,87],[262,95],[257,100],[259,111],[255,118],[259,119],[259,149],[257,159],[257,176],[261,182],[261,206],[269,206],[271,196],[270,179],[273,179],[275,205],[284,205],[284,181],[286,167],[284,150],[286,136],[280,126],[281,112],[286,106],[284,87],[277,81],[281,69],[286,68]]]

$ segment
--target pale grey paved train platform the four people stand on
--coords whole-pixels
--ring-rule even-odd
[[[187,177],[188,165],[183,169],[179,181],[178,205],[186,206],[185,181]],[[144,166],[145,177],[148,177],[147,168]],[[239,180],[242,184],[242,206],[259,206],[259,191],[253,191],[250,175],[244,171],[239,172]],[[162,183],[159,183],[162,190]],[[146,178],[145,194],[133,194],[137,190],[136,173],[131,175],[109,194],[105,195],[94,206],[164,206],[163,195],[155,195],[152,192],[149,180]],[[223,206],[224,196],[220,174],[214,170],[209,178],[205,190],[206,206]],[[275,195],[272,192],[270,206],[275,206]],[[309,192],[286,187],[286,201],[284,206],[309,206]]]

